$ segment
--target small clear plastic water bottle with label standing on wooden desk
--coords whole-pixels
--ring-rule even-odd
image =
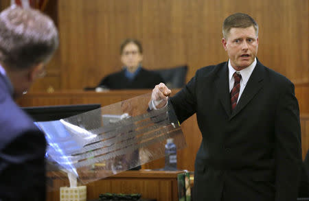
[[[165,144],[165,170],[177,170],[177,152],[174,139],[168,139]]]

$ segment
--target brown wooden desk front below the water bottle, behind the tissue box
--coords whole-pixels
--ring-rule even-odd
[[[177,201],[177,174],[181,171],[126,171],[87,184],[87,199],[98,199],[101,193],[141,193],[142,198],[157,201]],[[60,200],[59,187],[69,186],[67,178],[52,178],[54,188],[47,201]]]

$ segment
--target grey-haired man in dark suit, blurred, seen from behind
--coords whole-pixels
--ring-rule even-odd
[[[45,14],[18,7],[0,13],[0,200],[45,200],[45,137],[14,99],[45,74],[57,46]]]

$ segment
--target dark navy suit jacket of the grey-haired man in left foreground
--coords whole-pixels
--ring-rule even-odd
[[[14,103],[0,74],[0,200],[45,200],[44,134]]]

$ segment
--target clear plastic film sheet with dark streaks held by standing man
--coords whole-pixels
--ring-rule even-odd
[[[47,178],[67,180],[71,174],[85,184],[162,158],[169,138],[177,149],[185,147],[172,105],[149,110],[149,101],[146,94],[66,119],[36,122],[48,143]]]

